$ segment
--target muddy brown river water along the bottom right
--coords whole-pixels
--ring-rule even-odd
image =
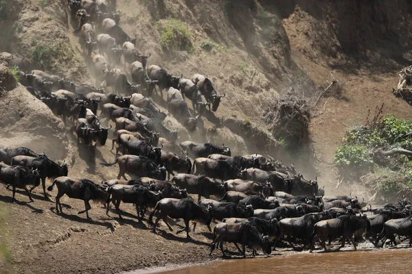
[[[271,258],[225,260],[181,269],[131,273],[412,273],[412,249],[371,249],[330,253],[295,253]]]

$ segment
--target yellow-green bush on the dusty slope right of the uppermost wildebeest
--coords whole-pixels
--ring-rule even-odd
[[[192,51],[193,45],[190,38],[192,33],[185,23],[170,19],[166,22],[159,22],[157,30],[161,36],[161,46],[167,50],[184,50]]]

